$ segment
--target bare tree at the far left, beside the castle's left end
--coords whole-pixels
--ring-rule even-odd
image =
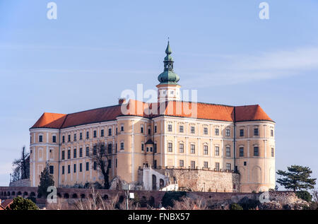
[[[14,160],[13,165],[13,181],[19,179],[28,179],[30,177],[30,154],[26,153],[25,146],[22,148],[21,157]]]

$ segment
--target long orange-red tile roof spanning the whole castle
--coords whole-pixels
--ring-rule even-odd
[[[44,113],[31,129],[64,129],[71,126],[112,121],[119,116],[126,115],[152,118],[164,114],[167,116],[193,117],[225,122],[261,120],[273,122],[259,105],[233,107],[202,102],[169,101],[158,104],[129,100],[123,106],[126,107],[127,112],[122,113],[121,105],[114,105],[73,114]],[[194,109],[194,112],[191,112],[191,109]]]

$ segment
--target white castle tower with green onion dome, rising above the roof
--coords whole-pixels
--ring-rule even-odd
[[[172,51],[168,41],[167,49],[165,49],[164,71],[158,76],[160,83],[158,88],[158,102],[165,102],[169,100],[180,100],[180,87],[178,85],[179,76],[173,71],[173,59],[171,57]]]

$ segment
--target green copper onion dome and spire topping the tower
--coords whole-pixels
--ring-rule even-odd
[[[167,56],[165,57],[163,64],[164,71],[163,73],[160,73],[158,76],[158,81],[160,81],[160,84],[174,84],[177,85],[177,82],[179,81],[179,76],[173,71],[173,59],[170,54],[172,54],[170,44],[168,42],[167,49],[165,49],[165,54]]]

